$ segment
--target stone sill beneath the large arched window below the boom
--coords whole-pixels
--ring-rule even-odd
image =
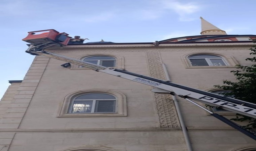
[[[127,116],[120,113],[67,113],[57,117],[104,117],[104,116]]]

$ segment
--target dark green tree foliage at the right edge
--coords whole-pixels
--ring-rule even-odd
[[[256,43],[256,39],[253,39],[253,42]],[[230,71],[233,72],[238,82],[225,80],[223,81],[225,85],[216,85],[215,87],[230,91],[223,94],[225,96],[233,96],[236,99],[256,104],[256,45],[252,46],[250,50],[252,51],[250,53],[252,57],[245,60],[251,61],[253,64],[250,66],[236,65],[237,70]],[[256,128],[256,119],[241,114],[236,115],[236,118],[231,120],[249,121],[246,127]]]

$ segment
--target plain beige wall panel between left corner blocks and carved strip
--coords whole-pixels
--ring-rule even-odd
[[[111,52],[112,51],[112,52]],[[115,54],[116,50],[108,53]],[[58,51],[59,54],[76,57],[82,54],[104,53],[102,50]],[[125,56],[125,69],[148,75],[145,52],[119,52]],[[141,59],[144,58],[144,59]],[[131,61],[133,60],[133,61]],[[69,69],[60,65],[65,62],[50,59],[45,68],[33,101],[20,125],[21,129],[115,129],[157,128],[158,118],[150,86],[131,83],[128,80],[88,69]],[[97,80],[93,80],[97,79]],[[108,89],[127,97],[127,117],[57,117],[64,98],[76,91]],[[54,90],[54,91],[53,91]],[[88,120],[90,122],[88,122]],[[31,124],[33,122],[33,124]]]

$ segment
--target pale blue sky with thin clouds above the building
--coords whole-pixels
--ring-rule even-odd
[[[256,0],[1,0],[0,98],[23,80],[34,56],[27,32],[55,29],[71,37],[116,43],[200,35],[199,17],[228,35],[256,35]]]

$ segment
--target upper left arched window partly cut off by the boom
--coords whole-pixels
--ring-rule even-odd
[[[102,65],[105,67],[115,67],[116,66],[116,58],[109,56],[92,56],[86,57],[83,59],[85,62]]]

